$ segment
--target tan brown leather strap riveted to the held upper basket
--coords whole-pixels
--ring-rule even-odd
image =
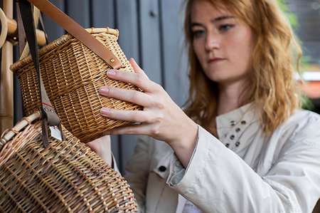
[[[90,33],[85,31],[82,26],[80,26],[77,22],[73,21],[69,16],[60,11],[57,7],[51,4],[47,0],[28,0],[38,9],[43,11],[44,14],[49,16],[53,21],[62,26],[66,31],[68,31],[71,35],[77,38],[81,43],[83,43],[87,48],[90,48],[97,56],[100,56],[102,60],[107,63],[110,68],[120,68],[122,64],[114,56],[114,54],[106,48],[100,41],[97,41],[95,37],[91,36]]]

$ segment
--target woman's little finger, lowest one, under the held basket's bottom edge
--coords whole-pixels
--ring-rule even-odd
[[[149,127],[145,124],[127,125],[107,130],[103,135],[147,135]]]

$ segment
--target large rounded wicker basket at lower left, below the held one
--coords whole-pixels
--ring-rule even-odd
[[[44,148],[40,116],[1,137],[0,212],[137,212],[124,178],[68,131]]]

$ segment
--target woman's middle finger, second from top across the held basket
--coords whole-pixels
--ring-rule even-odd
[[[100,87],[100,94],[108,98],[116,98],[118,100],[137,103],[137,105],[149,106],[149,95],[137,90],[127,90],[103,85]]]

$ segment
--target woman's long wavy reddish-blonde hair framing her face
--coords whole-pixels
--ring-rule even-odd
[[[185,1],[185,35],[188,46],[190,80],[185,112],[193,120],[215,133],[210,126],[216,117],[218,85],[209,80],[193,50],[191,9],[193,1]],[[213,6],[233,12],[252,29],[255,45],[252,51],[252,72],[242,103],[252,103],[265,135],[270,135],[299,107],[300,92],[294,78],[293,47],[298,58],[302,51],[297,44],[289,21],[276,0],[203,0]]]

